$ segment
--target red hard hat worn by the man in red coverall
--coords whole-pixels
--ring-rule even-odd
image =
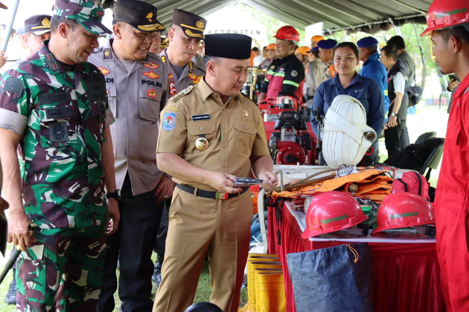
[[[420,36],[431,35],[433,30],[469,23],[467,0],[434,0],[427,13],[427,29]],[[469,26],[466,27],[469,31]]]

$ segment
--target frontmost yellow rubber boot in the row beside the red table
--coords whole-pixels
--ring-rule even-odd
[[[258,312],[286,312],[285,285],[283,274],[259,273]]]

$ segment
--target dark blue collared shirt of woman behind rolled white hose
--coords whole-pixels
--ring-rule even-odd
[[[376,131],[379,138],[384,126],[383,95],[378,83],[357,73],[345,89],[340,84],[339,74],[319,85],[314,95],[310,119],[316,138],[318,138],[318,121],[314,118],[314,109],[319,109],[319,114],[325,116],[334,98],[340,94],[353,96],[362,103],[366,112],[366,124]]]

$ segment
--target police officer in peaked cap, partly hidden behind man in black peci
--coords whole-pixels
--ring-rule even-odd
[[[168,65],[174,77],[177,92],[199,83],[205,74],[203,64],[193,62],[200,40],[204,39],[207,20],[203,17],[174,9],[171,28],[168,29],[169,46],[159,56]]]

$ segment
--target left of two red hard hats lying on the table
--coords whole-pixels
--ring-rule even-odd
[[[343,192],[330,191],[314,196],[306,212],[304,239],[340,231],[363,222],[366,216],[356,200]]]

